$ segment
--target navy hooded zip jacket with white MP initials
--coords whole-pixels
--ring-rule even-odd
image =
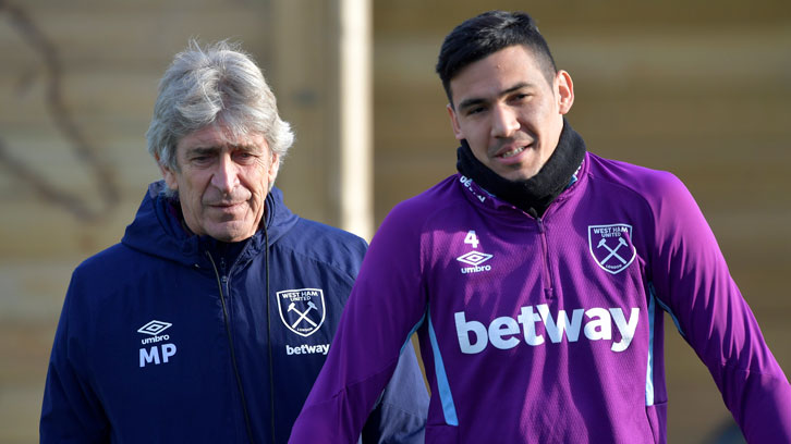
[[[284,443],[325,362],[365,242],[301,219],[272,188],[266,230],[222,244],[188,234],[163,187],[72,275],[42,443]],[[363,442],[423,442],[411,344],[390,386]]]

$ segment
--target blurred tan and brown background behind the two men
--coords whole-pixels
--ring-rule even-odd
[[[120,239],[159,178],[144,135],[158,79],[190,37],[241,41],[256,58],[296,132],[278,177],[287,203],[355,230],[339,197],[342,3],[0,0],[0,442],[38,440],[71,271]],[[367,4],[372,108],[358,127],[373,131],[372,230],[455,171],[434,74],[443,36],[484,10],[527,11],[574,79],[569,120],[588,149],[681,177],[791,372],[790,2]],[[739,442],[707,370],[669,325],[669,442]]]

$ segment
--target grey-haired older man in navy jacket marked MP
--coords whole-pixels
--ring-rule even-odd
[[[72,276],[41,442],[285,442],[366,244],[272,187],[293,135],[234,46],[175,57],[147,137],[165,181]],[[423,440],[427,394],[414,350],[402,356],[364,442]]]

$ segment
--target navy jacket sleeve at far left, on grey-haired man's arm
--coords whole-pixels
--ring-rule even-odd
[[[66,294],[44,391],[41,443],[105,443],[109,442],[109,423],[99,399],[76,362],[85,362],[78,337],[74,333],[70,308],[74,299],[74,279]]]

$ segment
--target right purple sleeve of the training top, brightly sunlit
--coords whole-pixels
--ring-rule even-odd
[[[750,443],[791,442],[791,386],[694,199],[672,177],[654,203],[656,296]]]

